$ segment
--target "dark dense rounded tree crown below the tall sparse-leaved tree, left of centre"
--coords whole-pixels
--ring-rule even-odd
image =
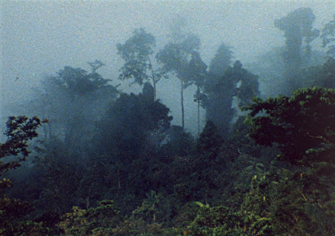
[[[99,126],[97,151],[113,155],[122,162],[140,157],[150,134],[169,128],[172,120],[169,111],[151,95],[120,94]],[[159,144],[159,140],[152,142]]]

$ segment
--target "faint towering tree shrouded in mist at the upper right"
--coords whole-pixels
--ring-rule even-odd
[[[301,86],[299,70],[311,55],[310,43],[319,35],[313,29],[315,15],[310,8],[299,8],[275,20],[274,25],[284,32],[286,79],[290,94]]]

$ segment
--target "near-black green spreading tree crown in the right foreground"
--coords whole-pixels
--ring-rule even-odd
[[[315,87],[297,90],[290,98],[255,98],[244,110],[254,117],[250,137],[257,144],[276,143],[284,154],[281,159],[304,165],[334,162],[334,106],[334,90]],[[261,111],[267,115],[256,116]]]

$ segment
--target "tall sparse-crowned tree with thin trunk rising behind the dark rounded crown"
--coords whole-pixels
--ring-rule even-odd
[[[120,69],[120,79],[133,79],[133,83],[143,85],[151,81],[156,99],[156,83],[163,76],[160,68],[153,69],[152,54],[155,47],[155,37],[147,33],[144,28],[137,28],[133,36],[127,39],[125,44],[117,44],[118,54],[125,64]]]

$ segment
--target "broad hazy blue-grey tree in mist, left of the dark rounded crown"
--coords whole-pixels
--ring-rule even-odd
[[[90,72],[65,66],[56,76],[42,80],[36,92],[39,99],[31,101],[31,110],[48,117],[49,136],[64,141],[71,152],[87,147],[85,143],[94,135],[91,124],[102,117],[117,96],[116,87],[97,73],[103,65],[99,60],[89,63]]]

